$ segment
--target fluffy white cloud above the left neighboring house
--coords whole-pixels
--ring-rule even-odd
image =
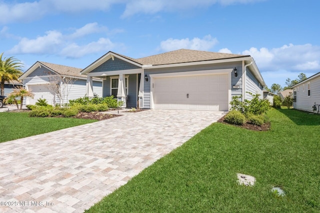
[[[116,31],[119,32],[119,30]],[[18,44],[10,49],[8,53],[56,54],[77,58],[86,54],[108,51],[115,46],[123,46],[122,44],[113,43],[110,39],[104,37],[100,37],[97,41],[91,41],[88,44],[76,43],[77,38],[99,32],[108,32],[108,30],[105,26],[99,26],[97,23],[88,23],[83,27],[75,29],[71,34],[62,34],[59,31],[51,30],[45,32],[45,35],[33,39],[21,38]],[[112,30],[111,33],[113,33]]]

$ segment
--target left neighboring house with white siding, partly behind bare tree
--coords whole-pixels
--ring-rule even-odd
[[[34,104],[37,99],[44,98],[48,104],[55,105],[84,97],[86,95],[86,76],[80,74],[81,70],[47,62],[35,62],[19,78],[23,80],[23,86],[34,94],[34,98],[26,98],[25,104]],[[71,79],[71,82],[65,82],[62,78]],[[58,98],[55,89],[50,86],[54,84],[63,88],[63,101]],[[93,92],[101,97],[102,80],[93,79]]]

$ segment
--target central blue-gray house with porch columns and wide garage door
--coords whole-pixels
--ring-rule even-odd
[[[260,94],[266,86],[250,55],[179,49],[134,59],[114,52],[81,71],[103,79],[102,96],[113,95],[123,107],[228,111],[234,95]]]

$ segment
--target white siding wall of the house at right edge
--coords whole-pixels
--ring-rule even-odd
[[[310,83],[310,96],[308,96],[308,83]],[[312,106],[314,103],[320,104],[320,76],[306,80],[303,84],[298,85],[299,90],[296,92],[296,103],[293,103],[293,108],[313,112]],[[297,89],[297,87],[293,88]]]

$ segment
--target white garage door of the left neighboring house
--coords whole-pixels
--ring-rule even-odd
[[[39,98],[45,98],[50,105],[54,103],[54,94],[45,85],[28,85],[28,89],[34,94],[34,98],[28,98],[27,104],[35,104]]]

